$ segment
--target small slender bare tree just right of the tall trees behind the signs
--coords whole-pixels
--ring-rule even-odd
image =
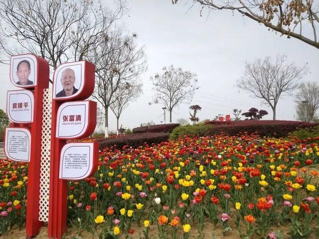
[[[110,108],[117,119],[118,131],[120,116],[128,107],[129,102],[136,100],[142,94],[142,86],[143,85],[141,83],[128,83],[125,86],[120,87],[120,89],[115,92],[114,98],[116,100],[110,105]]]

